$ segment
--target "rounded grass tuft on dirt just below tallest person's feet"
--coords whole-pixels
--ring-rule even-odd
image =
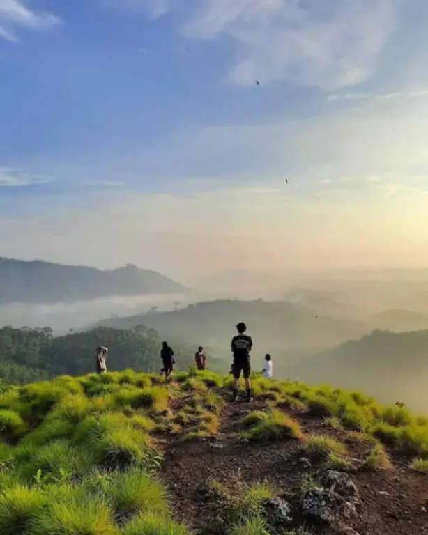
[[[250,412],[243,419],[243,424],[250,427],[242,434],[246,440],[272,441],[286,438],[303,439],[303,432],[298,421],[284,414],[284,412],[273,409],[266,412]]]

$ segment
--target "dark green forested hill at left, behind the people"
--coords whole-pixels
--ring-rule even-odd
[[[170,341],[173,342],[173,341]],[[80,375],[95,371],[95,349],[109,348],[107,366],[110,370],[132,368],[139,371],[160,369],[158,333],[143,326],[130,331],[99,328],[54,338],[46,329],[0,329],[0,380],[22,384],[56,375]],[[179,369],[194,364],[195,349],[173,343]],[[211,357],[210,368],[225,369]]]

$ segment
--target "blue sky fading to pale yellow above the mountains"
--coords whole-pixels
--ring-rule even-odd
[[[428,265],[427,20],[426,0],[0,0],[0,256]]]

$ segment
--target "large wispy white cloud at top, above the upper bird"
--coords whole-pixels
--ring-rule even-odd
[[[330,90],[361,84],[397,21],[396,0],[133,1],[151,16],[181,12],[185,38],[229,38],[235,54],[228,79],[244,86],[254,79]]]

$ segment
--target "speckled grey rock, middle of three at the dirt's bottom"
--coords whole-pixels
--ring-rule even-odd
[[[300,505],[304,516],[326,524],[349,518],[356,513],[353,502],[346,501],[332,489],[321,487],[309,488],[303,494]]]

